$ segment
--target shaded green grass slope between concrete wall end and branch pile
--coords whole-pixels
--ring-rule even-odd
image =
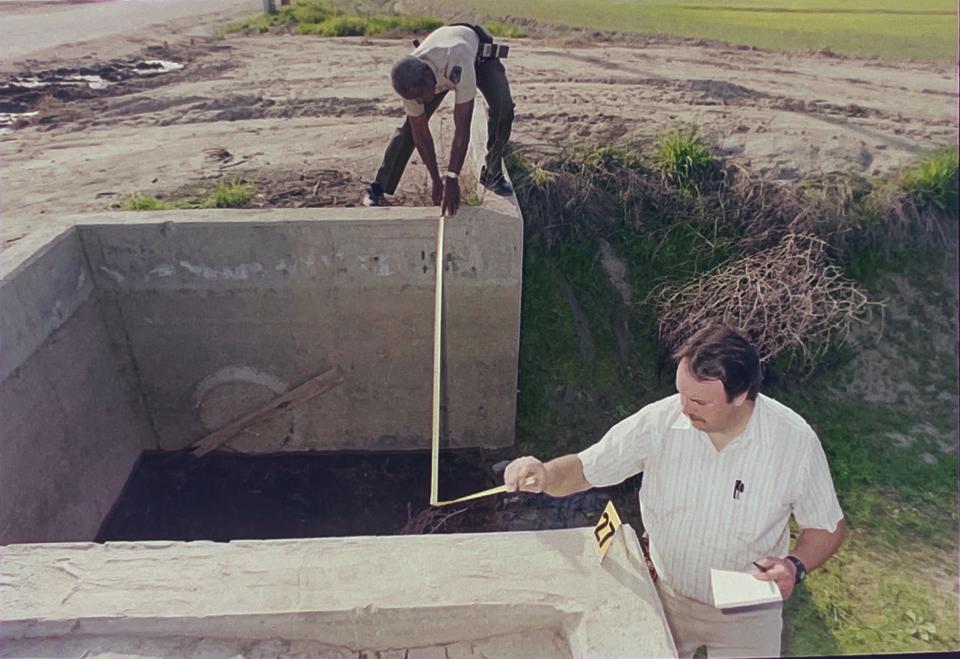
[[[527,249],[523,288],[517,446],[547,457],[579,450],[640,393],[610,326],[617,294],[598,255],[573,242]]]

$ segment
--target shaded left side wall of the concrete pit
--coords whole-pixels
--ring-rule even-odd
[[[0,264],[0,544],[87,540],[155,440],[77,231],[17,247]]]

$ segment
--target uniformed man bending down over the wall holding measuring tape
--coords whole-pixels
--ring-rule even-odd
[[[513,98],[500,62],[505,51],[479,26],[447,25],[434,30],[390,72],[394,90],[403,98],[407,119],[383,154],[374,182],[364,191],[364,206],[382,206],[384,194],[397,190],[414,146],[433,183],[433,203],[450,215],[460,208],[460,170],[470,143],[477,89],[487,99],[487,157],[480,183],[499,195],[513,192],[503,176],[503,152],[513,126]],[[454,93],[453,144],[446,171],[440,174],[428,121],[447,92]]]

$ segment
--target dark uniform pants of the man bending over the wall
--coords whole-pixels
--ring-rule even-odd
[[[510,130],[513,127],[513,97],[510,95],[507,72],[499,59],[480,62],[476,64],[475,70],[477,89],[487,99],[487,105],[490,108],[487,116],[487,157],[484,180],[496,181],[503,173],[503,153],[507,142],[510,141]],[[447,92],[440,92],[425,104],[424,112],[427,118],[433,115],[446,95]],[[476,112],[476,107],[474,111]],[[410,129],[410,119],[407,118],[394,132],[383,154],[380,169],[377,170],[376,182],[385,193],[396,192],[413,149],[413,133]]]

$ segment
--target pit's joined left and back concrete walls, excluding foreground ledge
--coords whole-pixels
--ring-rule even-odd
[[[95,537],[142,449],[188,446],[331,367],[340,386],[224,448],[428,448],[436,217],[105,213],[17,242],[0,258],[0,544]],[[447,236],[444,446],[507,446],[516,200],[486,195]]]

